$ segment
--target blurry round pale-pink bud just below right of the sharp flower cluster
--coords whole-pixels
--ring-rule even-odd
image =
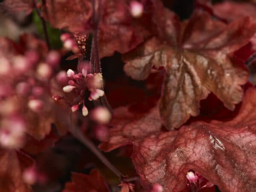
[[[105,107],[97,107],[90,113],[90,117],[98,123],[107,124],[111,120],[111,113]]]

